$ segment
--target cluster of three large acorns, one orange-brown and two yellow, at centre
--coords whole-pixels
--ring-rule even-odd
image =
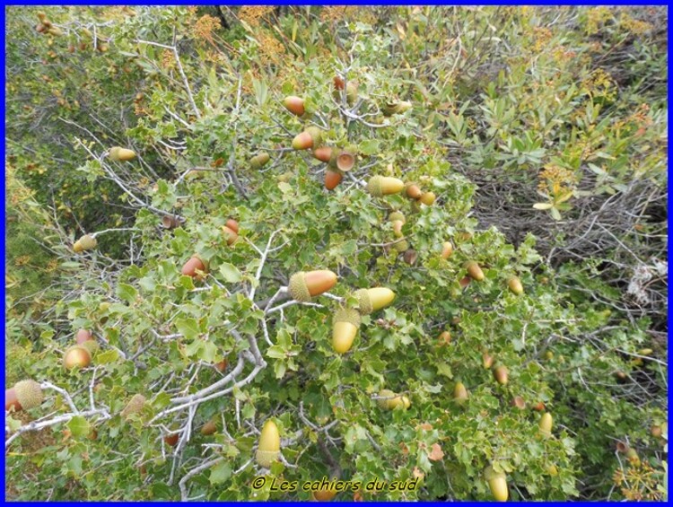
[[[288,292],[295,301],[310,302],[312,297],[326,293],[337,284],[337,275],[328,269],[318,271],[300,271],[290,277]],[[334,312],[332,328],[332,346],[338,354],[351,350],[357,332],[360,329],[361,316],[369,315],[388,306],[395,293],[386,287],[360,289],[353,294],[357,308],[340,305]]]

